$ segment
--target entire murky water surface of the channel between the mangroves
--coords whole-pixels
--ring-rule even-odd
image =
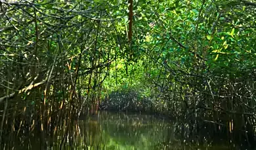
[[[68,130],[9,135],[3,149],[236,149],[221,136],[209,139],[203,132],[204,136],[191,136],[188,125],[164,117],[101,111],[74,121]]]

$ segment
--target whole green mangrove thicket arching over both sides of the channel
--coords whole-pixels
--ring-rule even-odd
[[[255,142],[255,2],[137,1],[129,42],[128,8],[0,2],[0,142],[34,128],[75,134],[71,118],[95,112],[114,85],[146,88],[154,111],[191,132],[210,125]]]

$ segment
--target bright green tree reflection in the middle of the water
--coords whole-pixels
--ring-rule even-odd
[[[167,137],[169,125],[152,115],[126,115],[125,113],[101,112],[79,127],[88,145],[104,144],[108,147],[140,147],[148,149]],[[83,128],[85,127],[85,128]],[[118,146],[117,146],[118,145]],[[146,148],[147,147],[147,148]]]

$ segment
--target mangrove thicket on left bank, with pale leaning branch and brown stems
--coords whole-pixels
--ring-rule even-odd
[[[108,41],[117,41],[114,22],[122,16],[110,10],[123,5],[0,2],[1,140],[13,142],[34,128],[54,134],[58,125],[68,133],[83,106],[95,107],[117,57],[117,42]]]

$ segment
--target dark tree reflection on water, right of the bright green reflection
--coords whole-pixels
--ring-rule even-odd
[[[196,129],[195,129],[196,128]],[[234,149],[226,139],[214,136],[212,128],[195,127],[188,123],[174,123],[167,128],[165,142],[155,145],[156,149]]]

